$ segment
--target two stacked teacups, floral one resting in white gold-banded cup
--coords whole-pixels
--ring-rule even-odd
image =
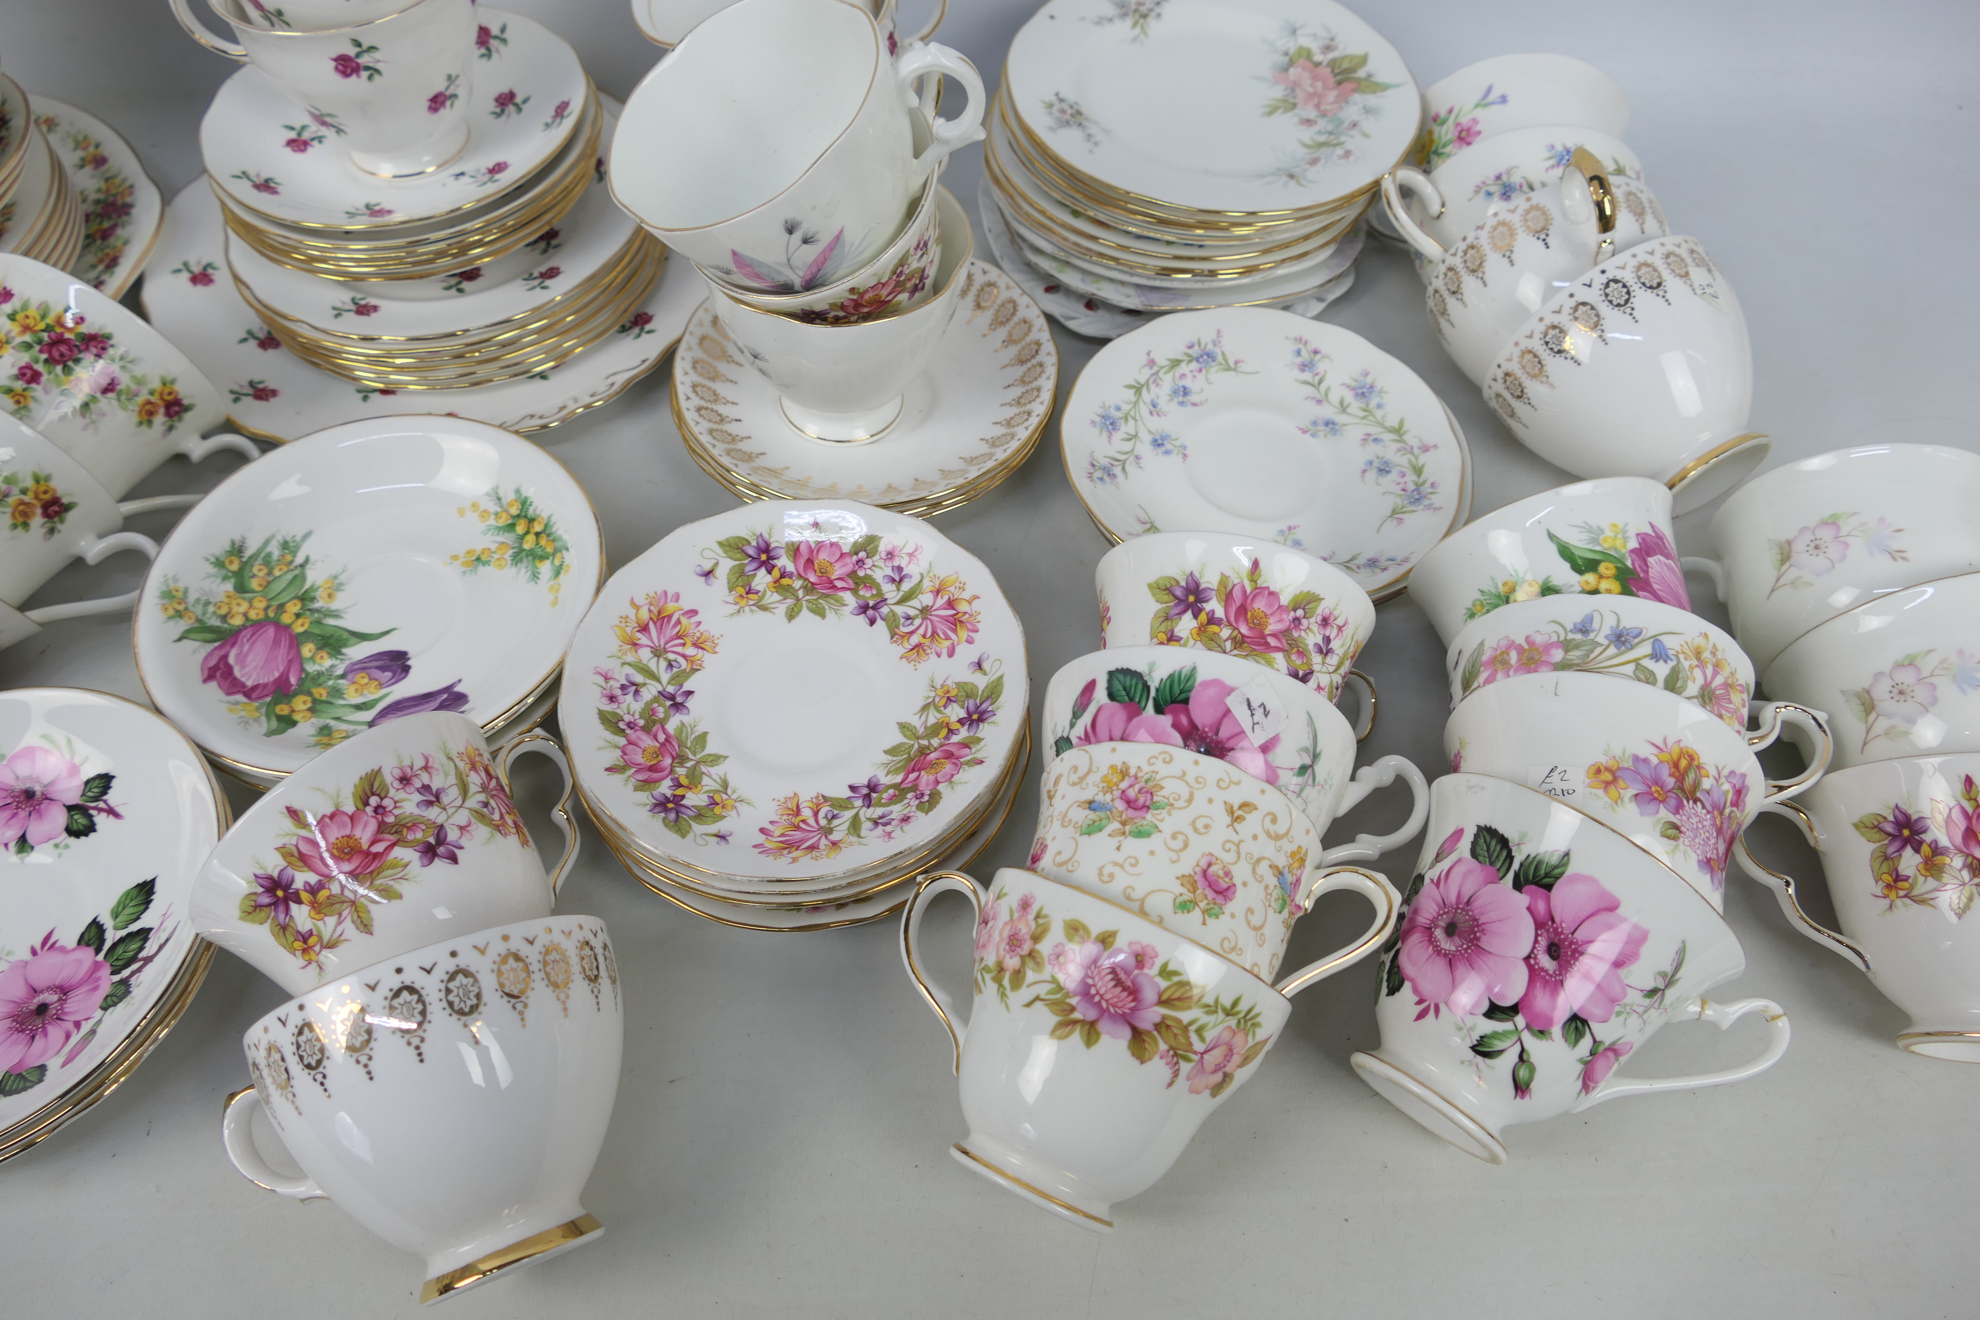
[[[546,875],[509,786],[564,768]],[[228,1156],[331,1197],[424,1257],[422,1300],[596,1237],[580,1193],[618,1090],[618,964],[594,916],[550,914],[576,859],[568,766],[544,734],[491,752],[430,712],[378,724],[267,792],[194,889],[200,934],[291,999],[249,1027]],[[303,1176],[269,1168],[259,1108]]]

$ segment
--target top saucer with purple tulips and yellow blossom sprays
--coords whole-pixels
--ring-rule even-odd
[[[242,467],[172,528],[137,608],[139,679],[210,758],[265,782],[400,714],[501,728],[602,580],[584,489],[531,441],[352,422]]]

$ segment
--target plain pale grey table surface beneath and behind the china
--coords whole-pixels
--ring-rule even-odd
[[[919,16],[925,0],[909,0]],[[204,8],[204,6],[200,6]],[[626,0],[515,0],[626,95],[659,53]],[[1523,49],[1580,55],[1630,93],[1630,142],[1679,230],[1732,279],[1754,342],[1756,429],[1774,463],[1845,443],[1980,447],[1980,212],[1972,148],[1980,6],[1586,0],[1368,0],[1360,12],[1422,83]],[[994,79],[1028,0],[952,0],[940,38]],[[196,125],[232,69],[162,0],[4,0],[0,63],[30,91],[103,117],[176,192]],[[948,186],[974,198],[978,148]],[[1394,352],[1449,402],[1485,511],[1566,477],[1521,449],[1443,358],[1396,249],[1370,243],[1327,319]],[[1093,340],[1057,332],[1061,398]],[[683,453],[655,372],[541,435],[588,485],[614,562],[731,497]],[[174,459],[139,493],[232,467]],[[1709,511],[1679,522],[1701,550]],[[145,526],[145,524],[139,524]],[[1105,548],[1065,485],[1057,427],[1022,473],[939,526],[1018,604],[1034,691],[1097,641]],[[129,556],[125,556],[129,558]],[[67,572],[36,604],[137,568]],[[1705,613],[1725,621],[1715,606]],[[1362,667],[1382,687],[1364,758],[1441,750],[1439,647],[1408,600],[1382,606]],[[812,675],[816,681],[820,675]],[[71,683],[143,699],[129,627],[51,625],[0,653],[0,687]],[[1034,776],[1036,780],[1036,776]],[[1346,821],[1398,809],[1388,794]],[[992,849],[1022,863],[1028,786]],[[1344,837],[1336,827],[1335,837]],[[1814,873],[1772,827],[1762,855]],[[895,922],[748,934],[649,896],[596,845],[566,910],[610,922],[630,990],[626,1071],[586,1205],[596,1245],[475,1290],[459,1316],[1972,1316],[1980,1069],[1901,1053],[1903,1013],[1732,881],[1727,916],[1794,1047],[1738,1086],[1626,1100],[1513,1128],[1489,1168],[1376,1098],[1348,1069],[1376,1043],[1372,964],[1295,1001],[1287,1039],[1176,1168],[1091,1237],[972,1178],[948,1039],[901,970]],[[1408,877],[1414,847],[1388,859]],[[1816,887],[1820,891],[1820,885]],[[1291,958],[1340,944],[1364,908],[1307,918]],[[962,904],[931,948],[964,976]],[[242,1181],[220,1148],[244,1084],[240,1033],[275,986],[222,956],[145,1067],[0,1166],[0,1308],[12,1316],[396,1316],[420,1263],[325,1201]],[[1643,1075],[1723,1067],[1752,1021],[1663,1031]]]

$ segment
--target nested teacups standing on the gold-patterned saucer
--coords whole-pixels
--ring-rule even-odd
[[[962,115],[931,119],[915,93],[931,75],[962,83]],[[758,97],[733,101],[739,81]],[[845,0],[742,0],[634,89],[612,194],[701,269],[800,431],[865,441],[899,416],[964,285],[968,218],[937,178],[980,119],[982,81],[946,46],[895,51]]]

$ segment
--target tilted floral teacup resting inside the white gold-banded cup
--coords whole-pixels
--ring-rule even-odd
[[[521,752],[564,774],[564,853],[543,859],[509,790]],[[570,764],[548,734],[489,752],[481,726],[430,710],[376,724],[267,790],[220,839],[192,924],[291,995],[453,932],[548,916],[578,857]]]

